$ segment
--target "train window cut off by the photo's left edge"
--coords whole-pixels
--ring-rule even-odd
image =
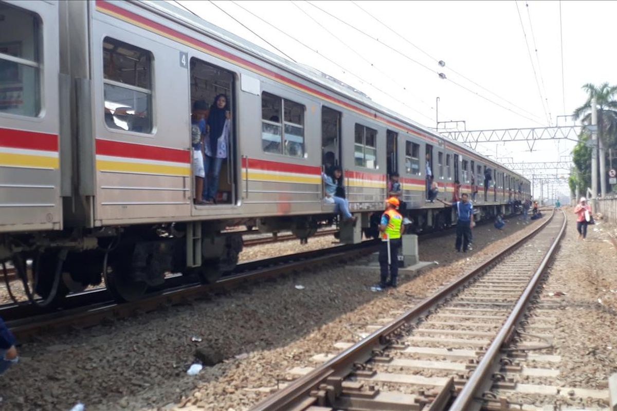
[[[0,2],[0,113],[41,112],[40,35],[36,14]]]

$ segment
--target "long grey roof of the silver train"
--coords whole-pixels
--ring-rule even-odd
[[[465,144],[462,144],[455,140],[447,139],[438,132],[429,129],[428,127],[423,126],[420,123],[416,123],[416,121],[413,121],[407,116],[401,115],[400,113],[394,112],[393,110],[374,102],[362,91],[359,91],[355,87],[349,86],[348,84],[337,80],[333,76],[323,73],[313,67],[310,67],[309,65],[305,65],[302,63],[294,63],[287,59],[284,59],[280,55],[276,55],[273,52],[264,49],[263,47],[257,46],[257,44],[251,43],[250,41],[247,41],[240,36],[234,35],[230,31],[227,31],[217,25],[208,22],[207,20],[204,20],[204,18],[201,18],[189,12],[188,10],[182,9],[180,6],[176,6],[176,4],[168,1],[163,2],[156,0],[140,0],[139,3],[147,6],[151,10],[154,10],[158,14],[162,15],[162,17],[176,20],[176,22],[188,26],[193,30],[199,30],[203,34],[213,39],[216,39],[217,41],[221,41],[222,43],[234,47],[239,51],[246,52],[247,54],[257,57],[260,60],[264,60],[267,63],[273,64],[294,75],[305,78],[312,83],[325,87],[326,89],[330,89],[331,91],[334,91],[337,94],[346,97],[347,99],[354,100],[355,102],[362,104],[365,107],[369,107],[376,112],[380,112],[384,115],[401,121],[402,123],[406,123],[408,126],[412,126],[413,128],[422,131],[424,134],[428,134],[429,136],[441,139],[444,142],[447,142],[447,144],[455,145],[458,148],[467,152],[473,152],[475,155],[482,157],[487,163],[491,163],[493,166],[498,165],[502,168],[507,169],[505,165],[502,165],[497,161],[491,160],[491,158],[488,158],[481,153],[470,149],[470,147],[466,146]],[[516,173],[515,171],[510,171],[511,173],[522,177],[523,179],[525,178],[524,176]]]

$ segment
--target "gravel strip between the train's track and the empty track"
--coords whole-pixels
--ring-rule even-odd
[[[44,336],[21,346],[22,362],[2,376],[0,407],[68,410],[81,401],[89,411],[180,405],[247,409],[267,395],[263,391],[276,389],[289,368],[312,364],[310,357],[331,352],[336,341],[357,340],[350,324],[375,324],[404,309],[529,229],[517,221],[508,222],[503,232],[490,225],[476,227],[474,250],[466,255],[453,251],[452,235],[421,242],[421,259],[439,261],[439,266],[411,281],[401,279],[400,287],[387,293],[368,291],[377,274],[336,266],[88,330]],[[272,246],[280,254],[289,249],[285,243]],[[203,341],[193,342],[193,336]],[[217,350],[224,360],[187,376],[197,346]]]

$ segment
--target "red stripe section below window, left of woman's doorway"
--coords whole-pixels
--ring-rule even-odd
[[[96,139],[96,153],[115,157],[141,158],[143,160],[175,161],[176,163],[190,163],[190,150],[169,149],[154,147],[146,144],[126,143]]]

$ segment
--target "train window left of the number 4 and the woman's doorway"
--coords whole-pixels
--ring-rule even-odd
[[[103,40],[105,123],[152,131],[152,53],[109,37]]]

